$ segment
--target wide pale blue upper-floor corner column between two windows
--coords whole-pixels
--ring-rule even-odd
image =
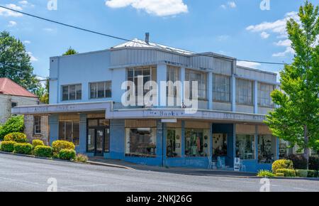
[[[166,106],[167,65],[157,65],[157,102],[160,107]],[[165,87],[163,87],[165,85]],[[163,89],[162,89],[163,88]]]

